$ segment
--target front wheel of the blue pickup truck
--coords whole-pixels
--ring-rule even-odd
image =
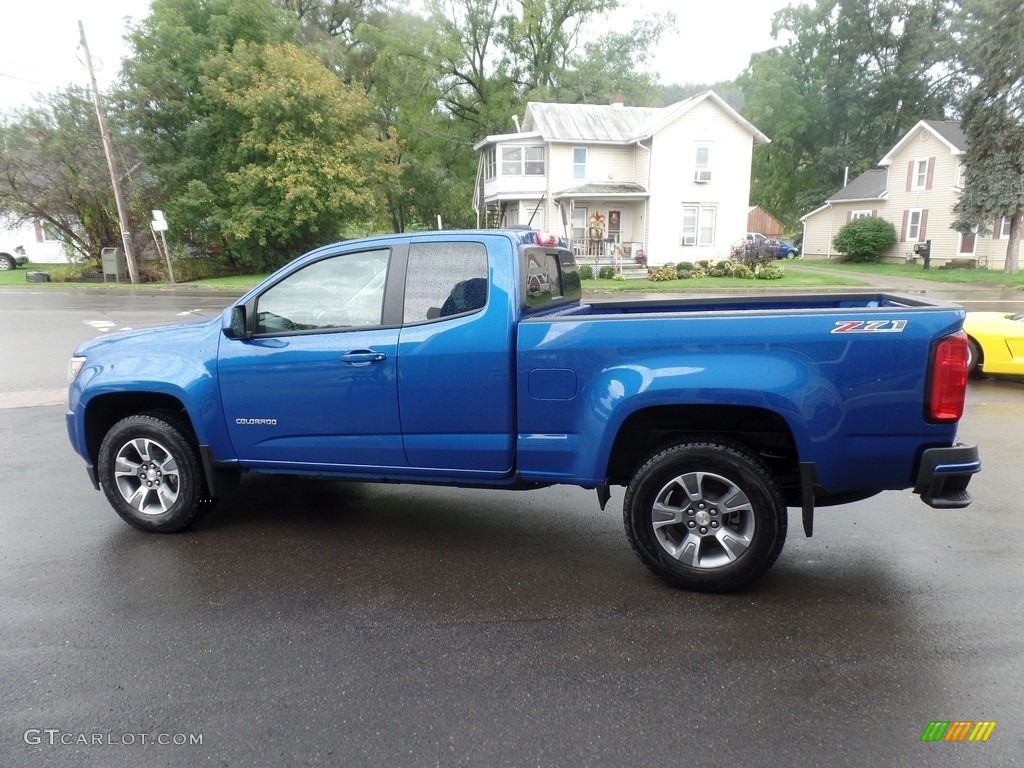
[[[191,430],[173,412],[122,419],[103,437],[98,459],[106,500],[139,530],[183,530],[213,506]]]

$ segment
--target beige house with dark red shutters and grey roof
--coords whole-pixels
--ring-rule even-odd
[[[991,234],[961,234],[951,228],[953,206],[964,184],[967,146],[959,123],[923,120],[879,162],[801,218],[805,256],[838,255],[833,238],[846,222],[881,216],[893,223],[899,242],[883,261],[914,257],[913,246],[932,242],[934,266],[952,261],[1001,269],[1010,220],[994,222]]]

